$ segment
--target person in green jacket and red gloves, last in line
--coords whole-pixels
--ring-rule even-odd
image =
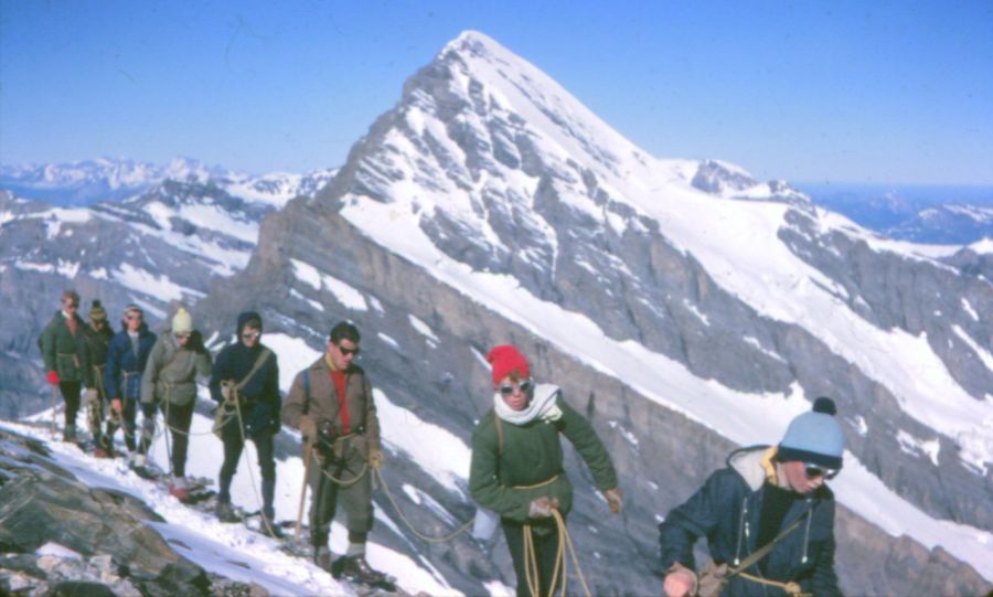
[[[62,308],[55,311],[40,338],[46,380],[57,387],[65,402],[65,428],[62,439],[76,441],[76,415],[83,385],[92,385],[88,352],[83,342],[86,323],[76,311],[79,295],[75,290],[62,294]],[[53,390],[54,392],[54,390]],[[53,398],[54,399],[54,398]],[[52,413],[55,416],[55,413]]]

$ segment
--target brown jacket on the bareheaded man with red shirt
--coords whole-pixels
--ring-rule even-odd
[[[339,417],[338,393],[334,390],[334,382],[331,381],[331,367],[325,356],[322,354],[293,377],[293,384],[282,404],[282,422],[299,429],[300,417],[310,415],[318,429],[324,422],[330,422],[335,435],[340,436],[343,431]],[[305,374],[310,375],[310,396],[307,396],[303,385]],[[373,402],[369,379],[357,365],[352,365],[345,371],[345,401],[349,406],[351,430],[364,438],[364,441],[353,444],[360,448],[363,456],[369,456],[370,450],[380,450],[380,419],[376,416],[376,405]]]

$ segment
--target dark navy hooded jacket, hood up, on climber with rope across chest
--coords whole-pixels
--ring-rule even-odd
[[[250,349],[242,342],[242,330],[245,322],[253,318],[261,321],[258,313],[253,311],[246,311],[238,316],[237,339],[233,344],[224,347],[214,361],[210,388],[211,397],[215,402],[224,402],[224,397],[221,395],[221,382],[241,383],[255,366],[255,362],[265,349],[261,342]],[[279,431],[282,398],[279,395],[279,365],[275,352],[269,350],[265,363],[246,381],[238,394],[242,398],[242,416],[245,419],[247,436]]]

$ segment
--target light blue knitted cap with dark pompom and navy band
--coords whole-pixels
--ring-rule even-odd
[[[820,397],[809,413],[790,422],[779,443],[777,457],[781,462],[801,461],[839,470],[845,449],[845,434],[834,418],[834,401]]]

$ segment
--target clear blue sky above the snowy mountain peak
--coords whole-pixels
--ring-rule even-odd
[[[993,2],[0,0],[0,163],[341,164],[466,29],[650,153],[993,184]]]

